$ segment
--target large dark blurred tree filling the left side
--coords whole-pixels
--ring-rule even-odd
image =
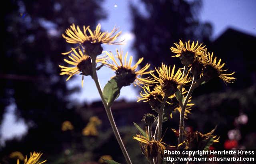
[[[15,113],[24,118],[29,131],[18,141],[6,142],[3,154],[19,150],[28,154],[60,152],[61,124],[81,122],[60,76],[62,52],[70,49],[61,34],[70,24],[90,25],[105,18],[102,0],[10,0],[5,3],[0,64],[0,120],[7,106],[16,104]],[[75,46],[75,45],[74,45]],[[81,124],[75,125],[81,129]],[[1,158],[1,157],[0,157]],[[50,162],[50,161],[49,161]],[[1,162],[2,163],[2,162]]]

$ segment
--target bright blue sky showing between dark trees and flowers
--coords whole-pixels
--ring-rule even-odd
[[[124,52],[128,51],[128,54],[134,55],[131,44],[135,36],[131,32],[132,19],[129,2],[138,5],[142,13],[146,12],[139,0],[105,0],[103,8],[108,13],[108,19],[101,20],[99,23],[102,25],[103,30],[111,31],[114,26],[119,27],[122,30],[120,40],[125,39],[126,44],[121,46],[104,45],[104,50],[115,52],[116,48],[122,48]],[[213,25],[212,39],[218,37],[229,27],[256,36],[256,0],[203,0],[202,2],[203,6],[199,18],[203,22],[210,22]],[[105,67],[98,71],[102,87],[111,76],[114,76],[114,72]],[[77,85],[81,86],[81,77],[72,77],[72,80],[69,80],[67,84],[70,88]],[[119,99],[124,98],[127,101],[134,101],[136,96],[138,96],[138,91],[131,85],[122,88]],[[73,94],[70,99],[88,103],[100,100],[95,84],[90,77],[85,78],[84,88],[80,92]],[[22,119],[16,122],[16,117],[13,114],[14,108],[15,106],[10,106],[8,112],[4,114],[4,120],[0,127],[3,136],[0,141],[26,132],[26,125]]]

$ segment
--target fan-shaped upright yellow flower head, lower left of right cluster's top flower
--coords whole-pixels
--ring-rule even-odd
[[[154,80],[156,80],[155,83],[160,83],[161,90],[165,94],[168,94],[168,96],[174,94],[178,90],[179,85],[184,85],[192,80],[191,78],[188,78],[188,74],[182,75],[180,69],[174,73],[175,65],[171,69],[171,66],[168,67],[162,63],[161,67],[155,69],[158,73],[158,77],[153,73],[151,73],[151,75],[154,77]]]

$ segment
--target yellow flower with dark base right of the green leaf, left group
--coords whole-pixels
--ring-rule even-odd
[[[110,63],[105,63],[109,68],[115,71],[116,73],[116,78],[118,82],[120,83],[121,86],[128,86],[130,84],[134,84],[134,86],[141,84],[148,85],[154,82],[150,77],[147,78],[142,78],[142,75],[145,74],[150,74],[154,72],[153,70],[146,71],[149,67],[150,64],[146,64],[144,67],[142,67],[140,70],[136,70],[138,68],[138,65],[142,62],[143,58],[140,58],[134,66],[132,66],[132,56],[130,56],[129,61],[127,61],[128,57],[128,52],[125,54],[124,59],[123,59],[123,52],[117,52],[117,58],[120,64],[116,61],[114,55],[112,52],[106,54],[109,56],[109,58],[112,60],[112,64]]]

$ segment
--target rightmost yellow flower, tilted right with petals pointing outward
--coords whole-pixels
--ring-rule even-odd
[[[204,76],[208,80],[215,77],[219,77],[225,83],[226,82],[233,83],[236,78],[231,77],[231,75],[233,75],[235,72],[231,74],[224,74],[223,72],[227,71],[227,70],[222,70],[222,67],[224,66],[225,63],[220,64],[220,62],[221,62],[221,59],[218,61],[218,63],[217,63],[216,57],[213,59],[213,52],[211,55],[210,53],[208,53],[208,62],[204,64],[202,76]]]

